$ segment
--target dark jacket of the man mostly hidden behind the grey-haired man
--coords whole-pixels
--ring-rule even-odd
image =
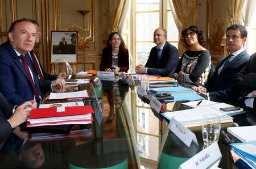
[[[34,55],[36,57],[35,53],[34,53]],[[25,54],[25,56],[26,56],[27,61],[30,62],[29,66],[31,67],[31,69],[35,73],[36,77],[38,77],[38,71],[36,71],[35,66],[33,64],[33,61],[31,59],[30,55],[29,54]],[[43,77],[44,77],[44,79],[39,79],[40,90],[44,91],[44,92],[51,91],[52,81],[56,80],[57,75],[51,75],[51,74],[46,73],[46,71],[44,71],[43,66],[41,65],[41,62],[40,62],[39,59],[38,59],[38,62],[39,62],[39,66],[40,66],[40,68],[42,70]]]

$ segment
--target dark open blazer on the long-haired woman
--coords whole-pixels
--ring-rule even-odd
[[[100,70],[105,71],[112,67],[112,48],[104,48],[102,50]],[[129,52],[128,49],[119,50],[118,53],[118,67],[120,71],[127,72],[129,70]]]

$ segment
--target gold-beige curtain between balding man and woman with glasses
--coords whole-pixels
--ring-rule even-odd
[[[179,30],[179,56],[181,56],[187,47],[183,42],[183,37],[181,36],[181,31],[184,27],[189,25],[199,25],[199,11],[198,6],[200,0],[172,0],[174,4],[174,9],[176,12],[176,16],[179,19],[180,27],[177,27]]]

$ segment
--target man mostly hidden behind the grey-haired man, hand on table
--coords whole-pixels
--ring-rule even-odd
[[[35,20],[31,20],[36,27],[36,39],[35,43],[39,43],[40,36],[42,33],[39,31],[39,24]],[[66,73],[60,73],[59,75],[51,75],[44,71],[43,66],[36,57],[36,54],[33,51],[28,52],[26,55],[27,61],[30,62],[31,69],[34,71],[36,77],[39,78],[39,85],[41,91],[51,91],[51,87],[54,86],[64,86],[65,78],[67,77]]]

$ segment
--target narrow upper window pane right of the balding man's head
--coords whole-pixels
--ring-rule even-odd
[[[168,41],[179,41],[179,31],[174,22],[174,16],[171,11],[168,11]]]

